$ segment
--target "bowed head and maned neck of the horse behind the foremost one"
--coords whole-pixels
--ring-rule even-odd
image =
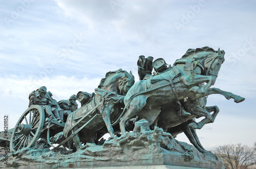
[[[134,82],[134,76],[131,71],[128,73],[125,70],[119,69],[106,73],[105,78],[101,79],[98,88],[125,95],[134,85]]]

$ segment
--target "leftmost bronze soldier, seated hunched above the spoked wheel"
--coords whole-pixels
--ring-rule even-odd
[[[47,93],[47,88],[45,86],[42,86],[36,91],[31,92],[29,94],[29,107],[31,105],[39,105],[45,110],[45,113],[48,118],[52,120],[59,120],[59,119],[56,119],[52,113],[52,108],[51,108],[51,105],[49,105],[49,100],[46,97],[46,93]]]

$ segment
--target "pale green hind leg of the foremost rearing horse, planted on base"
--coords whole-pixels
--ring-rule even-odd
[[[125,124],[126,122],[137,115],[137,113],[146,105],[146,97],[144,95],[139,95],[131,101],[130,105],[127,105],[127,111],[120,120],[120,130],[122,136],[126,135]],[[126,109],[123,109],[125,111]]]

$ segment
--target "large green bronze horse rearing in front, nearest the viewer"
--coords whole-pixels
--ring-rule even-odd
[[[145,119],[149,125],[152,125],[161,110],[173,102],[185,97],[194,99],[202,97],[199,94],[205,94],[214,85],[221,64],[224,62],[224,54],[223,50],[216,51],[210,47],[188,49],[171,69],[136,82],[124,97],[123,112],[125,114],[120,121],[122,136],[126,134],[127,120],[134,116]],[[207,84],[200,87],[204,82]],[[182,120],[176,120],[172,126],[177,126],[194,117],[188,116]]]

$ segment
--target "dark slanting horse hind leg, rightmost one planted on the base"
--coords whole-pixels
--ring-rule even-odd
[[[202,145],[200,144],[200,142],[197,142],[197,139],[195,138],[195,135],[192,132],[193,129],[191,130],[190,128],[188,128],[185,123],[181,124],[180,127],[183,130],[183,132],[185,133],[185,135],[187,136],[187,138],[189,139],[190,143],[193,144],[193,146],[196,149],[198,149],[199,152],[201,152],[201,153],[206,153],[207,152],[204,148],[201,147]]]

